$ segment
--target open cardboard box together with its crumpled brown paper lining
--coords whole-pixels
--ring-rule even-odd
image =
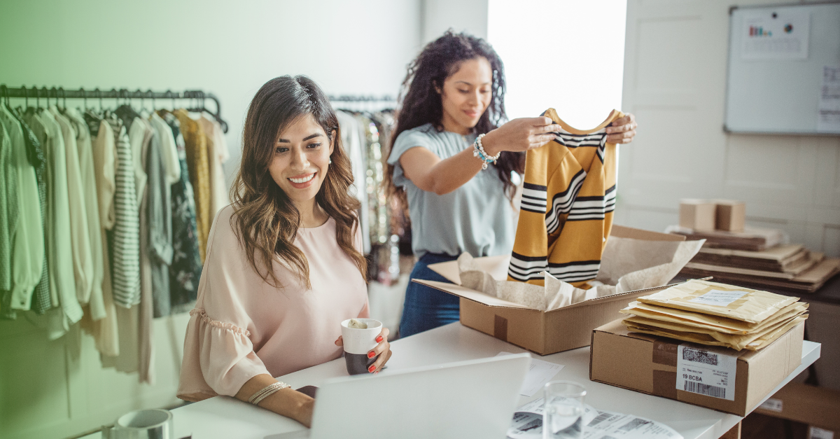
[[[664,283],[702,246],[702,241],[683,241],[679,235],[613,225],[599,282],[589,289],[553,278],[546,282],[548,289],[501,282],[507,278],[508,256],[432,264],[429,268],[452,283],[412,282],[459,296],[462,325],[548,355],[589,346],[592,329],[619,319],[618,311],[638,296],[666,288]]]

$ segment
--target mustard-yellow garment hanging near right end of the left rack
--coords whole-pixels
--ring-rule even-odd
[[[207,235],[213,217],[210,214],[210,161],[207,157],[207,137],[201,126],[181,108],[173,112],[181,123],[181,135],[186,144],[186,164],[190,172],[193,195],[196,203],[196,226],[198,230],[198,254],[204,261]]]

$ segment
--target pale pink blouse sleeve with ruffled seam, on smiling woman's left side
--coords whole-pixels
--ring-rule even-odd
[[[248,292],[245,273],[254,271],[246,267],[230,225],[232,211],[228,206],[219,212],[207,240],[196,308],[186,328],[177,392],[181,399],[234,396],[250,378],[269,373],[250,338],[254,322],[242,299]]]

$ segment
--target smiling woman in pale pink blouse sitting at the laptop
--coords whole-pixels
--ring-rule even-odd
[[[340,322],[368,316],[359,202],[340,140],[307,77],[276,77],[251,101],[234,204],[207,240],[179,398],[225,394],[309,426],[313,399],[273,377],[339,358]],[[370,373],[391,357],[387,338],[383,329],[369,352],[379,355]]]

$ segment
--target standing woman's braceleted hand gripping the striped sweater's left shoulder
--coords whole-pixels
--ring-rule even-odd
[[[554,140],[551,133],[559,130],[560,125],[545,116],[513,119],[487,133],[481,139],[481,145],[491,156],[499,151],[528,151]]]

